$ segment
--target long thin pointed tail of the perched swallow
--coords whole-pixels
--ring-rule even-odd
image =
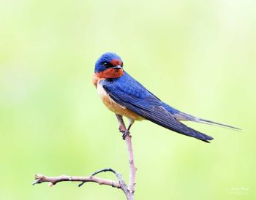
[[[214,122],[214,121],[211,121],[211,120],[204,120],[202,118],[197,118],[197,117],[194,117],[194,116],[189,115],[189,114],[184,113],[184,112],[178,112],[178,113],[174,114],[174,117],[177,120],[188,120],[188,121],[193,121],[193,122],[197,122],[197,123],[205,123],[205,124],[212,125],[212,126],[219,126],[219,127],[222,127],[222,128],[229,128],[229,129],[232,129],[234,131],[241,131],[241,128],[236,128],[234,126],[225,125],[223,123],[217,123],[217,122]]]

